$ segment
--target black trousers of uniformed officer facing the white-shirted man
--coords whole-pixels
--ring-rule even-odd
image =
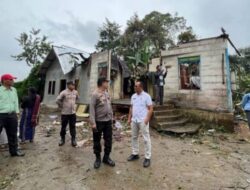
[[[102,151],[101,138],[103,134],[104,139],[104,153],[109,156],[112,150],[112,121],[97,121],[97,130],[93,130],[93,140],[94,140],[94,154],[100,155]]]

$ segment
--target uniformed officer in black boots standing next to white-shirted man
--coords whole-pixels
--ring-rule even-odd
[[[110,158],[112,150],[112,120],[113,111],[111,106],[111,98],[107,92],[109,80],[99,78],[97,81],[97,89],[93,92],[90,101],[90,124],[93,130],[94,154],[96,160],[94,168],[101,166],[101,137],[104,138],[104,156],[103,163],[111,167],[115,166],[115,162]]]

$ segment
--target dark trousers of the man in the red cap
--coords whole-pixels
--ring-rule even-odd
[[[9,143],[9,152],[11,155],[15,154],[17,151],[17,115],[16,113],[8,114],[8,113],[0,113],[0,133],[2,132],[2,128],[5,128],[8,143]]]

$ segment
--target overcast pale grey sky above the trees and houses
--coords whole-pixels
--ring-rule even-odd
[[[0,0],[0,75],[23,80],[30,67],[11,55],[22,50],[16,38],[31,28],[41,29],[54,45],[95,51],[98,28],[105,18],[126,27],[135,13],[178,13],[198,38],[214,37],[225,28],[237,48],[250,46],[249,0]]]

